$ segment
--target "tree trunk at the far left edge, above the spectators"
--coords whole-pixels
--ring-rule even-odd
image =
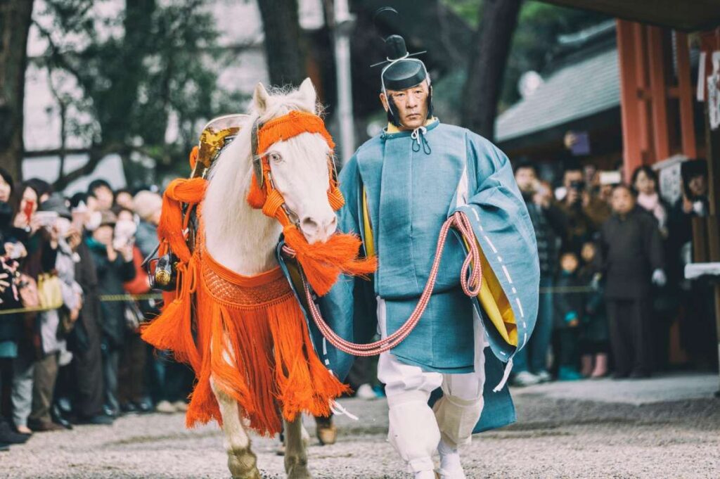
[[[0,165],[22,179],[22,107],[32,0],[0,0]]]

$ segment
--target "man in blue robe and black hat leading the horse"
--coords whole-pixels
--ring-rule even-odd
[[[485,138],[433,117],[425,65],[408,58],[402,37],[386,43],[380,101],[389,123],[341,171],[346,205],[338,212],[338,228],[358,233],[379,267],[369,281],[341,277],[320,308],[348,340],[368,339],[376,327],[382,337],[397,331],[426,285],[441,225],[456,211],[467,215],[481,251],[480,295],[461,288],[466,245],[451,234],[425,313],[378,365],[388,437],[409,472],[462,479],[458,447],[473,432],[515,420],[505,382],[535,323],[536,241],[508,158]],[[325,364],[344,377],[351,358],[316,330],[313,336]],[[443,397],[431,408],[438,388]]]

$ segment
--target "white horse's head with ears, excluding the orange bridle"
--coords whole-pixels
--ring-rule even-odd
[[[261,123],[286,115],[292,109],[317,114],[315,88],[305,79],[300,88],[274,96],[262,84],[255,88],[253,109]],[[337,219],[328,200],[333,152],[319,133],[301,133],[272,143],[264,152],[271,178],[309,243],[327,241]]]

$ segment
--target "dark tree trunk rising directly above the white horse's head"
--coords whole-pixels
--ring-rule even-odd
[[[260,0],[270,83],[299,86],[305,79],[297,0]]]

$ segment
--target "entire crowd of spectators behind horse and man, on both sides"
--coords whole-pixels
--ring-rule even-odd
[[[682,165],[674,205],[647,166],[626,184],[618,171],[579,166],[557,188],[531,163],[516,164],[515,176],[541,295],[514,385],[649,377],[667,367],[678,318],[690,363],[717,367],[711,285],[683,274],[693,218],[708,213],[704,161]],[[0,169],[0,450],[73,424],[186,409],[192,372],[140,339],[158,314],[143,260],[158,244],[161,204],[153,189],[113,191],[103,180],[63,197]],[[382,395],[373,369],[355,364],[348,380],[359,397]]]

